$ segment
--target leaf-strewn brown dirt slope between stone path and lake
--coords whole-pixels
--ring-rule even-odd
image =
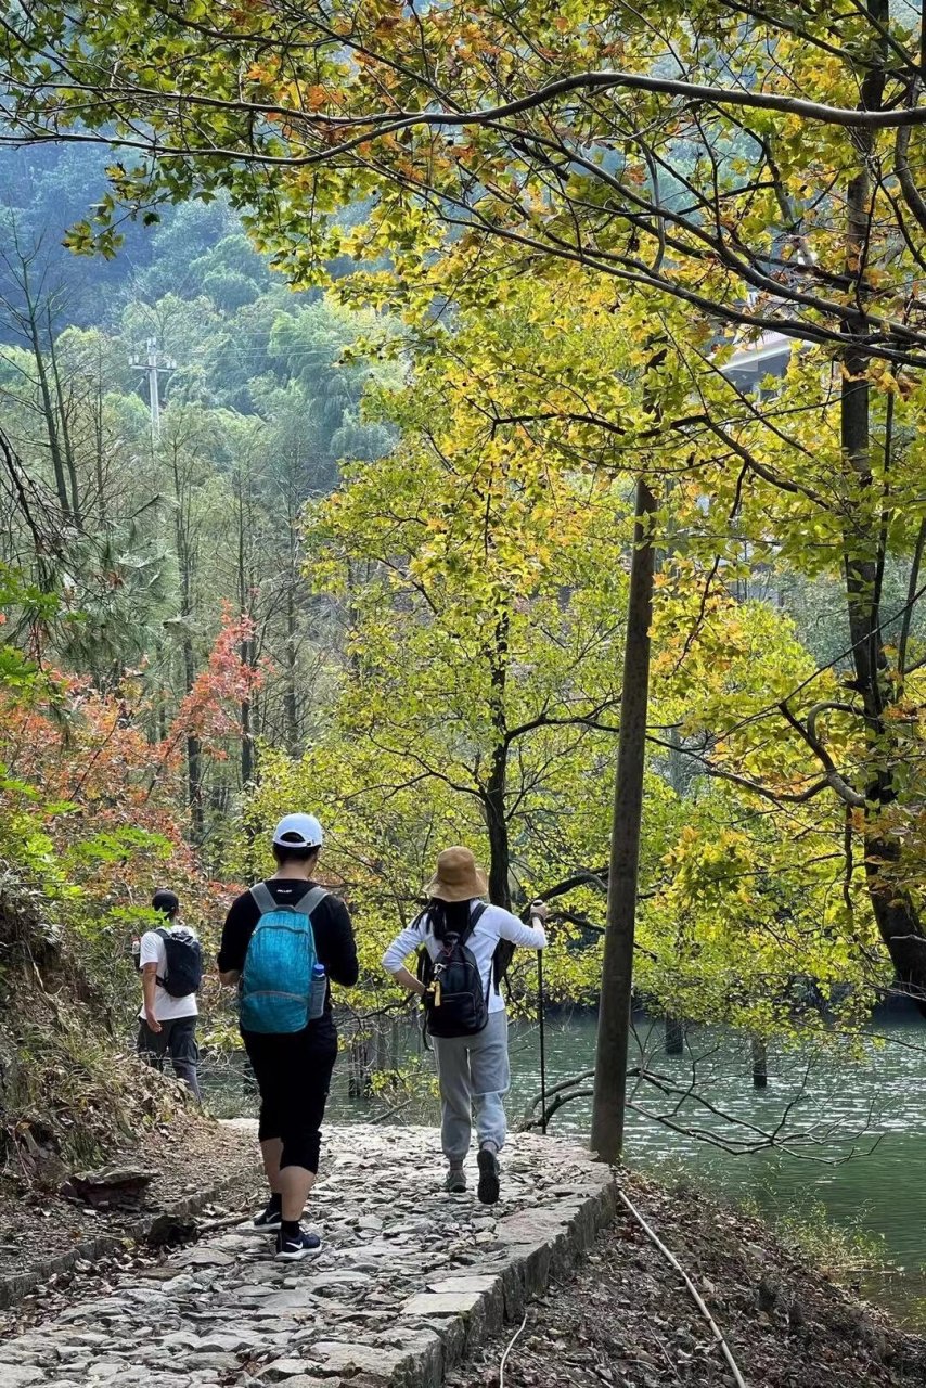
[[[621,1173],[696,1284],[747,1388],[922,1388],[926,1339],[808,1269],[761,1223],[691,1190]],[[448,1388],[498,1384],[512,1331],[487,1341]],[[504,1388],[733,1385],[684,1283],[625,1208],[573,1277],[528,1309]]]

